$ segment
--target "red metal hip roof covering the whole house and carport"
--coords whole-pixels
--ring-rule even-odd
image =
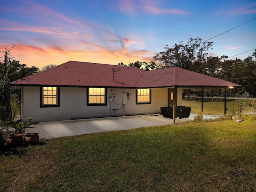
[[[69,61],[11,84],[16,86],[100,86],[123,88],[157,87],[240,87],[225,80],[178,67],[144,71],[131,66],[116,66]]]

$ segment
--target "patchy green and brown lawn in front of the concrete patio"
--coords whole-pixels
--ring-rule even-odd
[[[0,191],[255,191],[255,125],[155,126],[6,148]]]

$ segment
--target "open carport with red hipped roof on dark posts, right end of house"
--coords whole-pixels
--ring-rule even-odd
[[[150,81],[148,80],[150,77]],[[223,88],[224,89],[224,108],[226,115],[227,88],[240,88],[241,85],[215,78],[212,76],[200,74],[190,70],[171,67],[165,70],[152,70],[142,76],[138,83],[138,88],[169,88],[172,92],[168,92],[168,98],[172,97],[173,122],[176,118],[176,106],[182,103],[182,89],[201,89],[202,90],[202,107],[201,112],[204,113],[204,89],[206,88]],[[169,95],[170,94],[170,95]]]

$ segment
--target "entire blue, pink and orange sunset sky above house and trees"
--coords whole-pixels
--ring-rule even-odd
[[[20,64],[40,69],[70,60],[149,62],[167,44],[242,24],[213,38],[209,55],[243,60],[256,48],[254,18],[254,0],[8,0],[0,4],[0,50],[14,46]]]

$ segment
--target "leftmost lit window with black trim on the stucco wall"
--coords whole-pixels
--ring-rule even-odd
[[[40,107],[59,107],[60,106],[60,88],[45,86],[40,87]]]

